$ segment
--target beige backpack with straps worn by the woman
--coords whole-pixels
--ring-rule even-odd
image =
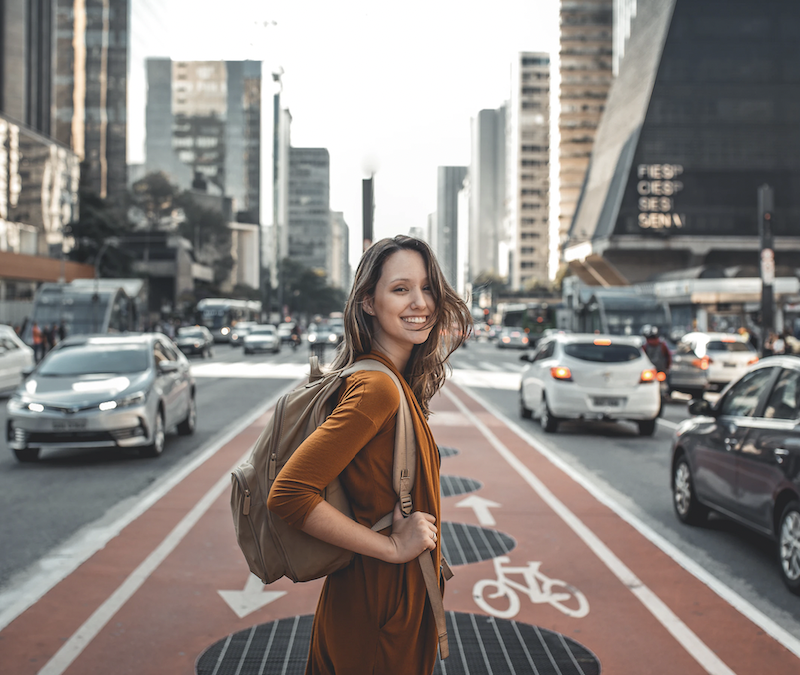
[[[416,438],[405,392],[397,376],[382,363],[364,359],[343,371],[323,374],[319,359],[310,359],[311,375],[304,386],[282,396],[264,431],[256,441],[249,459],[232,474],[231,512],[236,540],[244,553],[250,571],[265,584],[288,577],[294,582],[311,581],[332,574],[350,564],[353,552],[316,539],[296,529],[267,508],[267,497],[275,478],[302,442],[333,411],[335,394],[344,378],[359,371],[386,373],[400,392],[394,448],[393,487],[403,514],[412,511],[411,488],[416,468]],[[339,479],[322,494],[325,501],[352,518],[353,513]],[[388,513],[372,526],[376,532],[392,524]],[[429,551],[419,557],[431,607],[439,634],[439,651],[447,658],[447,629],[438,577]],[[445,578],[452,572],[443,564]]]

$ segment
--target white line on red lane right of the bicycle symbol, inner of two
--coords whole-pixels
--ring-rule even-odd
[[[697,661],[709,675],[734,675],[734,671],[695,635],[678,616],[664,604],[642,581],[623,563],[603,541],[587,527],[566,505],[542,483],[536,475],[512,453],[497,436],[478,417],[472,413],[454,394],[443,389],[445,396],[467,417],[494,447],[498,454],[509,463],[520,477],[533,488],[544,501],[576,535],[592,550],[617,579],[645,606],[645,608],[666,628],[678,643]]]

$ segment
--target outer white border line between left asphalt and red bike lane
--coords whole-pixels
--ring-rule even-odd
[[[39,568],[38,572],[0,594],[0,608],[5,607],[0,611],[0,631],[104,548],[125,527],[139,518],[195,469],[213,457],[231,439],[247,429],[274,406],[281,396],[294,389],[297,384],[298,382],[295,381],[285,387],[252,413],[241,418],[230,429],[209,440],[187,464],[166,474],[143,492],[120,502],[108,514],[81,528],[64,544],[34,563]]]

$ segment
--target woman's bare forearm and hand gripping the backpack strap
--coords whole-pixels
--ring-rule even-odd
[[[392,534],[385,536],[351,520],[341,511],[320,502],[308,515],[303,532],[312,537],[389,563],[404,563],[426,549],[436,548],[436,518],[415,511],[404,518],[400,505],[394,509]]]

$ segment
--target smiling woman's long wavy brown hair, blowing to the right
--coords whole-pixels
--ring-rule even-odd
[[[364,301],[375,294],[383,264],[397,251],[416,251],[425,262],[428,284],[434,300],[434,323],[428,339],[414,345],[403,373],[422,411],[430,414],[428,404],[445,380],[447,359],[469,337],[472,315],[442,274],[430,246],[421,239],[398,235],[381,239],[367,249],[356,270],[353,288],[344,308],[344,340],[334,358],[334,370],[346,368],[355,359],[372,351],[374,317],[367,314]]]

